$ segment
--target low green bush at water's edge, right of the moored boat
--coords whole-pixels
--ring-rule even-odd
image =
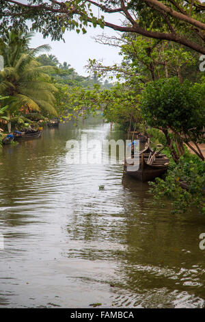
[[[180,186],[180,180],[187,184],[188,190]],[[173,213],[195,207],[205,214],[205,162],[196,156],[181,157],[177,165],[169,168],[165,180],[156,178],[150,186],[156,203],[163,198],[172,201]]]

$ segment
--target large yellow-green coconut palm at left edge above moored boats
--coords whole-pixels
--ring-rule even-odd
[[[25,110],[43,110],[57,116],[54,97],[57,88],[50,83],[48,75],[55,72],[55,67],[41,66],[35,60],[35,56],[45,49],[49,50],[50,47],[43,45],[21,54],[18,51],[18,56],[12,58],[10,64],[0,71],[0,95],[8,96],[3,100],[2,106],[9,106],[9,119]],[[10,50],[4,53],[5,61],[8,62]],[[10,130],[9,124],[8,129]]]

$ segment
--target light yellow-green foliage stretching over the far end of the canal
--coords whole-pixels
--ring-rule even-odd
[[[107,122],[119,123],[125,129],[131,120],[134,124],[141,121],[139,97],[135,89],[126,84],[118,84],[109,90],[100,88],[98,84],[91,89],[70,88],[67,99],[70,112],[64,119],[87,117],[99,111]]]

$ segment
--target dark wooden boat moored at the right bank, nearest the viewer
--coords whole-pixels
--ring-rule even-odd
[[[148,163],[150,152],[153,153],[149,145],[140,151],[134,158],[128,158],[125,164],[125,172],[136,177],[141,182],[147,182],[160,177],[167,171],[169,159],[165,154],[158,154],[152,164]]]

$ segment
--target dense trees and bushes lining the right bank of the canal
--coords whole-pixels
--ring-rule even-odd
[[[201,144],[205,142],[205,78],[197,65],[200,56],[179,45],[142,36],[104,35],[97,40],[120,47],[122,64],[103,66],[90,60],[89,69],[98,77],[115,76],[119,82],[108,90],[100,86],[88,91],[73,89],[70,99],[74,114],[100,109],[107,121],[150,134],[173,160],[165,181],[157,179],[152,184],[156,200],[173,199],[177,212],[191,206],[204,212]],[[179,180],[187,182],[189,189],[182,189]]]

